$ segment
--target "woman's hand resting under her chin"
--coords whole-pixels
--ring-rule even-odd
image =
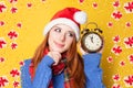
[[[61,54],[59,52],[49,52],[48,55],[53,58],[54,61],[53,65],[58,65],[58,63],[61,59]]]

